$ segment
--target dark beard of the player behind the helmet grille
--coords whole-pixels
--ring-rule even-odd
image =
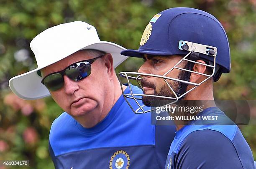
[[[181,79],[183,74],[184,74],[183,72],[180,72],[177,79]],[[177,93],[177,91],[179,90],[180,83],[181,82],[178,82],[178,81],[170,81],[168,84],[172,87],[173,91],[175,93]],[[154,96],[165,96],[165,97],[174,97],[175,98],[174,93],[172,92],[172,90],[169,88],[169,86],[166,83],[160,88],[159,92],[156,91],[156,86],[154,85],[154,83],[146,82],[145,78],[141,79],[141,85],[143,87],[153,88],[154,89],[154,93],[151,94],[151,95],[154,95]],[[146,93],[143,91],[143,94],[146,94]],[[154,96],[142,96],[143,104],[145,106],[150,107],[150,106],[155,106],[153,104],[153,103],[156,103],[155,101],[168,101],[168,100],[171,100],[169,98],[160,98],[160,97],[154,97]]]

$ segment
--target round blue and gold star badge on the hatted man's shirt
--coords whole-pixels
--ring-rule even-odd
[[[126,151],[116,151],[109,161],[110,169],[128,169],[130,165],[130,157]]]

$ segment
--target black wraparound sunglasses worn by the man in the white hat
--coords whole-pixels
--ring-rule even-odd
[[[91,74],[91,64],[97,59],[102,58],[104,55],[100,55],[96,58],[79,61],[64,68],[62,71],[50,73],[45,76],[41,83],[50,91],[57,91],[64,85],[64,75],[69,77],[73,81],[80,81]]]

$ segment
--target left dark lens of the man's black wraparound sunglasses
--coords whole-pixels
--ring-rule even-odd
[[[52,74],[44,79],[44,85],[50,91],[59,90],[63,86],[63,83],[64,81],[60,73]]]

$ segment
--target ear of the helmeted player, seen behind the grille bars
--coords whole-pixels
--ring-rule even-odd
[[[205,64],[205,61],[202,61],[202,60],[197,60],[197,62]],[[205,72],[206,71],[206,66],[198,64],[198,63],[195,63],[195,65],[193,67],[193,71],[207,74]],[[200,75],[200,74],[197,74],[197,73],[191,73],[191,75],[190,75],[190,82],[200,83],[202,81],[200,78],[205,79],[205,78],[207,78],[207,76]],[[199,81],[199,79],[200,79],[200,81]]]

